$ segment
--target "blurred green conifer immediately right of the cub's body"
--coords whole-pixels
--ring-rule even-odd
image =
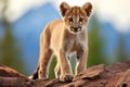
[[[100,34],[100,26],[95,15],[91,17],[92,26],[89,30],[89,57],[88,67],[100,63],[107,64],[105,55],[103,53],[104,37]]]

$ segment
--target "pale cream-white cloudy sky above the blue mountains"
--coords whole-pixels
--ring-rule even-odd
[[[112,22],[117,32],[130,32],[130,0],[9,0],[6,16],[14,22],[24,15],[31,8],[51,2],[58,11],[61,2],[66,1],[70,5],[82,5],[89,1],[93,4],[93,13],[96,12],[101,22]],[[2,5],[0,7],[1,11]]]

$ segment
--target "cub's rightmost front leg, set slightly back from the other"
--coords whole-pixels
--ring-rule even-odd
[[[76,71],[75,71],[76,75],[78,75],[79,73],[81,73],[87,69],[87,59],[88,59],[88,49],[80,48],[77,51],[77,64],[76,64]]]

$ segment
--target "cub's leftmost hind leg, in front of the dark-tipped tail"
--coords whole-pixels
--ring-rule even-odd
[[[38,78],[48,78],[49,62],[52,57],[52,50],[50,49],[50,35],[46,29],[40,37],[40,54],[39,54],[39,71]]]

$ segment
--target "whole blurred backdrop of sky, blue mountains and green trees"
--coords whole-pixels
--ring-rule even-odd
[[[0,0],[0,63],[30,75],[39,58],[39,36],[52,20],[61,18],[63,0]],[[70,5],[90,1],[88,67],[130,60],[130,0],[65,0]],[[75,66],[75,57],[72,66]],[[50,78],[54,77],[53,57]]]

